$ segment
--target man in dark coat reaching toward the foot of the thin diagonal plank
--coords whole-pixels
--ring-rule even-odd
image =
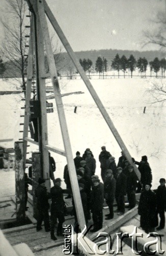
[[[148,158],[147,156],[142,156],[141,162],[137,162],[132,158],[133,162],[137,165],[139,165],[138,169],[140,170],[141,173],[141,184],[145,188],[146,184],[151,184],[152,183],[152,172],[151,168],[148,163]],[[141,191],[141,186],[140,183],[138,183],[138,188],[137,188],[137,193]]]

